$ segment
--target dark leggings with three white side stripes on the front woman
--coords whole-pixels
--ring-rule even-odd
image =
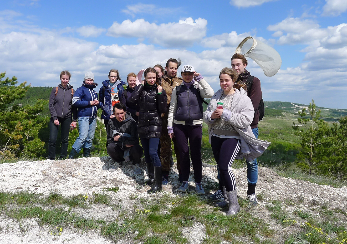
[[[236,180],[230,167],[240,150],[240,145],[240,139],[236,138],[211,138],[213,156],[219,168],[219,182],[227,191],[236,189]]]

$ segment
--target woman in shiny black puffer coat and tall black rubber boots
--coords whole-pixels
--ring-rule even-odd
[[[167,96],[161,87],[158,72],[153,68],[145,70],[145,80],[137,85],[129,102],[139,105],[137,122],[138,136],[145,154],[149,182],[155,185],[148,190],[154,193],[162,190],[162,170],[158,156],[158,144],[161,136],[161,114],[167,110]]]

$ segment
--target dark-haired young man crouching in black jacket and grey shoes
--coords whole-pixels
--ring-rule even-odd
[[[126,111],[123,103],[116,103],[113,106],[115,117],[109,120],[107,125],[107,153],[110,155],[115,165],[109,169],[116,171],[122,166],[122,161],[133,161],[134,174],[141,174],[138,164],[141,162],[143,154],[142,147],[138,144],[138,134],[136,121]]]

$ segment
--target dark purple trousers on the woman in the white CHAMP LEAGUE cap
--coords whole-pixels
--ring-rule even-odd
[[[191,161],[189,160],[189,146],[191,148],[191,158],[196,183],[202,179],[202,162],[201,162],[201,138],[202,126],[190,126],[174,124],[174,135],[179,140],[179,156],[182,180],[188,181]]]

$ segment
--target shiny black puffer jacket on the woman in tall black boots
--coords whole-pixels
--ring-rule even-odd
[[[139,84],[129,98],[130,103],[139,105],[137,129],[140,138],[161,136],[161,114],[167,110],[167,96],[164,89],[157,94],[156,87],[156,84]]]

